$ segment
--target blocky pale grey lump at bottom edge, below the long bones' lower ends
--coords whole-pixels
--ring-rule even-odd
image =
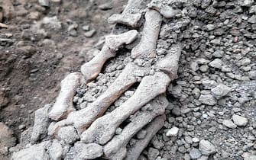
[[[89,144],[76,142],[74,148],[77,159],[94,159],[103,155],[102,146],[99,146],[95,142]]]

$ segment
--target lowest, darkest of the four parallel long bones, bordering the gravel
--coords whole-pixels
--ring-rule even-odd
[[[144,139],[139,139],[135,142],[134,146],[130,146],[127,150],[127,155],[125,160],[138,159],[141,152],[147,147],[148,143],[151,141],[153,136],[164,126],[165,115],[156,117],[151,123],[146,127],[147,135]]]

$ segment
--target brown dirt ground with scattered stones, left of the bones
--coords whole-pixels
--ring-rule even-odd
[[[35,110],[54,102],[63,77],[79,71],[83,62],[92,58],[87,51],[99,37],[111,32],[107,18],[122,11],[124,4],[125,1],[112,1],[110,5],[101,0],[51,1],[49,7],[43,7],[35,0],[0,2],[0,21],[8,25],[0,27],[0,121],[17,138],[33,125]],[[43,24],[34,29],[44,18],[54,16],[61,23],[60,28]],[[68,31],[73,24],[77,28]],[[86,25],[96,34],[86,37]]]

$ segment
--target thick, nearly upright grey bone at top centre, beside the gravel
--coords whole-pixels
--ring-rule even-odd
[[[162,23],[162,16],[154,10],[145,14],[145,23],[140,43],[131,50],[131,58],[154,58]]]

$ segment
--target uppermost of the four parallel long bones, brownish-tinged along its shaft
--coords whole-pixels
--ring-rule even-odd
[[[134,63],[128,63],[124,71],[115,79],[115,82],[101,95],[83,110],[77,110],[68,115],[66,120],[57,122],[52,128],[49,127],[50,135],[53,135],[60,126],[74,125],[79,132],[83,132],[97,117],[102,116],[105,110],[117,99],[122,93],[127,91],[131,85],[138,82],[137,72],[147,74],[147,69],[142,69]]]

